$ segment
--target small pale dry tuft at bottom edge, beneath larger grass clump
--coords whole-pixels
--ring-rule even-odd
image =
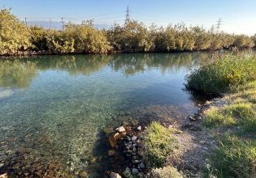
[[[175,167],[167,166],[163,168],[154,168],[152,171],[154,178],[182,178],[182,174]]]

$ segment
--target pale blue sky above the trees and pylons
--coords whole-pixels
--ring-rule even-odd
[[[126,6],[131,19],[145,24],[184,22],[210,28],[221,18],[225,32],[256,33],[256,0],[0,0],[0,6],[11,7],[20,19],[123,23]],[[32,19],[30,19],[32,20]]]

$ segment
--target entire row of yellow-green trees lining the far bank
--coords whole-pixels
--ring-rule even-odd
[[[9,9],[0,11],[0,55],[38,53],[171,52],[217,49],[249,49],[256,35],[218,32],[215,28],[187,27],[184,23],[167,28],[130,20],[110,29],[93,28],[93,21],[67,23],[64,30],[26,27]]]

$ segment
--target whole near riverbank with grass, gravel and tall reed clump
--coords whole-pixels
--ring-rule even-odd
[[[200,105],[184,125],[158,121],[146,126],[142,177],[256,176],[255,62],[254,57],[228,56],[189,75],[187,88],[223,97]]]

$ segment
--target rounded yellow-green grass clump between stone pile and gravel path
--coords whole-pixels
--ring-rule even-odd
[[[154,167],[161,167],[166,162],[168,155],[175,156],[179,143],[173,134],[179,133],[177,129],[165,128],[153,122],[144,135],[145,158]]]

